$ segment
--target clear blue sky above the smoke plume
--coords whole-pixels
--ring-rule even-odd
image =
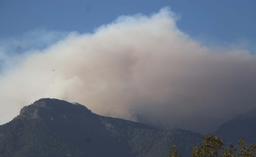
[[[0,39],[37,28],[93,32],[120,15],[149,15],[169,6],[178,28],[195,39],[256,42],[256,0],[0,0]]]

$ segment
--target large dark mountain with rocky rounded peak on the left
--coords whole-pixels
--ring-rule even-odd
[[[175,144],[190,156],[201,135],[92,113],[85,106],[42,98],[0,126],[0,157],[167,157]]]

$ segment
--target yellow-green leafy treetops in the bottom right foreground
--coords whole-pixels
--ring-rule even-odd
[[[223,148],[222,140],[211,134],[203,137],[200,147],[193,145],[192,157],[254,157],[256,144],[245,144],[244,138],[239,140],[239,152],[236,152],[235,146],[230,145],[229,148]],[[179,153],[175,145],[171,147],[171,153],[168,157],[179,157]]]

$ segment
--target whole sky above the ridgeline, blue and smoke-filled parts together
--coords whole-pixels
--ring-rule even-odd
[[[255,107],[255,15],[255,0],[0,0],[0,124],[59,98],[213,132]]]

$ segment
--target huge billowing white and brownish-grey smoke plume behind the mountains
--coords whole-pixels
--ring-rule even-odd
[[[175,19],[168,8],[123,16],[93,34],[70,33],[43,51],[5,58],[0,122],[39,98],[200,132],[251,109],[255,57],[246,50],[205,47],[181,32]]]

